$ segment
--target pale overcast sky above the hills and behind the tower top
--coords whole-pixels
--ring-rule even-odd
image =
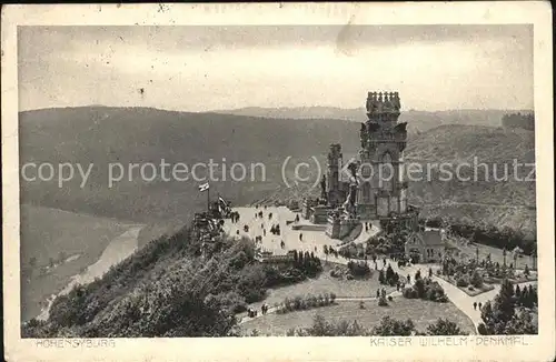
[[[18,47],[20,110],[357,108],[374,90],[533,109],[530,26],[21,27]]]

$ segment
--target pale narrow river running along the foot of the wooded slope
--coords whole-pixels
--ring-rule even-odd
[[[95,264],[87,268],[81,274],[71,276],[71,281],[58,294],[52,294],[48,301],[48,306],[42,309],[37,319],[47,320],[56,296],[68,294],[71,289],[77,284],[87,284],[92,282],[96,278],[101,278],[110,267],[119,263],[123,259],[131,255],[138,248],[137,238],[143,227],[131,227],[128,231],[115,238],[105,249],[99,260]]]

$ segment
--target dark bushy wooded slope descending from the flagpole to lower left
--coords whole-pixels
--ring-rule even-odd
[[[271,267],[255,261],[250,240],[219,237],[203,245],[185,228],[59,296],[48,321],[23,324],[22,336],[236,335],[236,313],[262,300],[267,288],[319,271],[320,260],[309,254],[302,263]]]

